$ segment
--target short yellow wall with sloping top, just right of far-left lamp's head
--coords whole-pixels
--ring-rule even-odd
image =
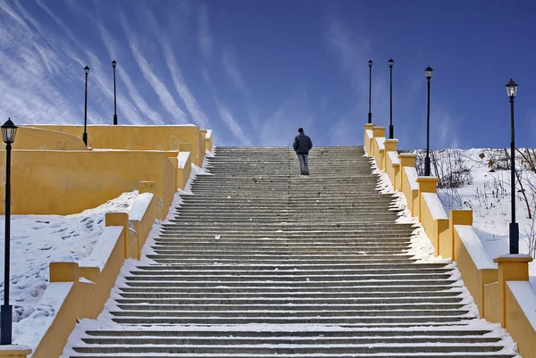
[[[21,126],[17,129],[13,149],[88,150],[88,147],[80,137],[52,130]]]

